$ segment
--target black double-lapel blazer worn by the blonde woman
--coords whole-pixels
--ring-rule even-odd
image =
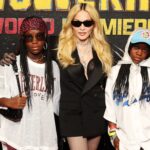
[[[102,71],[102,64],[95,51],[93,51],[93,60],[88,64],[91,68],[88,71],[88,80],[85,78],[77,50],[72,56],[75,58],[75,64],[60,70],[62,134],[64,136],[100,135],[104,131],[106,75]],[[75,121],[72,118],[78,118],[78,120]],[[82,122],[82,125],[77,122]],[[73,126],[75,126],[74,129]]]

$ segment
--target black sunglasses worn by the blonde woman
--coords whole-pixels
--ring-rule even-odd
[[[85,20],[85,21],[73,20],[71,21],[71,24],[74,27],[80,27],[82,24],[85,27],[91,27],[94,24],[94,21],[93,20]]]

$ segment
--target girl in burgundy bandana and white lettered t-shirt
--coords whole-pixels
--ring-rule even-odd
[[[7,150],[56,150],[54,112],[58,114],[59,69],[47,49],[47,27],[39,17],[25,18],[20,28],[20,55],[17,66],[22,93],[27,104],[5,105],[19,101],[17,83],[11,66],[0,68],[0,100],[3,106],[23,108],[20,122],[1,117],[0,140]]]

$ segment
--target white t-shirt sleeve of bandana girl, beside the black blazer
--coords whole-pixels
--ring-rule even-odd
[[[54,94],[53,94],[53,110],[56,115],[59,115],[59,101],[60,101],[60,71],[56,62],[53,61],[54,73]]]

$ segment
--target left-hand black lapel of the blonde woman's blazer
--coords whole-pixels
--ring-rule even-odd
[[[83,89],[86,78],[84,76],[84,68],[80,63],[77,50],[73,52],[72,57],[75,58],[75,64],[70,65],[67,68],[68,74],[73,79],[74,84]]]

